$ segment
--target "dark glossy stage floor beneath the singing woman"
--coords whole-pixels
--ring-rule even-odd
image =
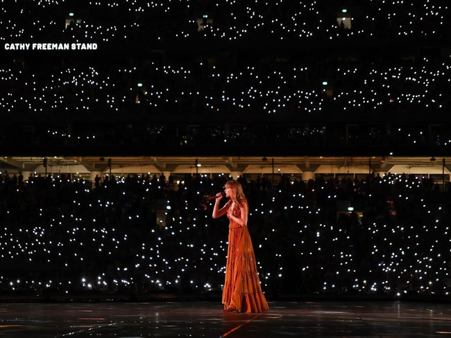
[[[0,337],[451,337],[446,303],[271,302],[263,314],[216,301],[0,303]]]

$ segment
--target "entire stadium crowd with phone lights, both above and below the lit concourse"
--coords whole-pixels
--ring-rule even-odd
[[[447,149],[449,124],[435,123],[451,108],[443,2],[1,0],[0,145]],[[96,48],[20,49],[33,42]],[[271,138],[267,125],[239,124],[273,117]],[[174,127],[200,118],[197,130]],[[341,120],[369,122],[345,131]],[[2,172],[1,290],[220,290],[228,224],[204,196],[227,179],[92,187]],[[448,295],[448,187],[389,173],[241,180],[267,294]]]

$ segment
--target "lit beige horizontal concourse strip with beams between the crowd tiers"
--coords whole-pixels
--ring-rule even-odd
[[[44,162],[45,161],[45,162]],[[44,165],[45,164],[45,165]],[[3,157],[2,172],[95,175],[447,175],[451,157]]]

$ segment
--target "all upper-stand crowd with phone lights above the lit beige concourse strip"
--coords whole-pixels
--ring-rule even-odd
[[[423,139],[443,148],[451,139],[449,125],[431,133],[422,117],[441,123],[450,109],[451,16],[443,1],[340,7],[335,1],[15,0],[1,1],[0,10],[7,18],[0,21],[3,46],[98,44],[96,51],[3,51],[4,146],[210,144],[203,134],[212,144],[263,144],[266,126],[238,125],[236,132],[225,130],[224,121],[266,118],[282,123],[272,140],[282,144],[411,146]],[[340,15],[350,26],[341,26]],[[207,125],[218,116],[219,125]],[[337,121],[362,119],[414,119],[418,126],[383,124],[368,133],[359,125],[358,135],[334,130]],[[17,121],[24,122],[17,127]],[[46,124],[17,130],[28,121]],[[200,121],[195,131],[171,130],[176,122]],[[306,121],[322,125],[306,130]]]

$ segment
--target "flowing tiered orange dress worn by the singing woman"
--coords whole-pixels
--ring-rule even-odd
[[[232,201],[228,201],[227,204],[230,208]],[[232,214],[240,217],[239,206],[235,206]],[[224,308],[233,308],[237,312],[269,310],[260,286],[248,227],[237,224],[230,217],[229,220],[226,281],[222,296]]]

